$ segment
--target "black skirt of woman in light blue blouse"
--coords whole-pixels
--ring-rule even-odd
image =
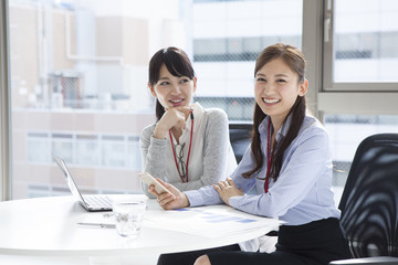
[[[337,219],[282,225],[273,253],[217,252],[208,256],[212,265],[327,265],[331,261],[352,257]]]

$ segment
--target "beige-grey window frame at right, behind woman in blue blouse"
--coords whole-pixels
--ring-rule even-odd
[[[302,43],[310,82],[307,98],[314,115],[321,121],[325,113],[398,115],[398,83],[332,84],[334,0],[303,0],[303,4]]]

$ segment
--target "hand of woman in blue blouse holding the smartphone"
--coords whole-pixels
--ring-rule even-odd
[[[189,206],[189,201],[187,195],[179,191],[176,187],[172,184],[166,183],[161,179],[156,179],[159,181],[163,186],[165,186],[172,194],[164,192],[161,194],[158,194],[155,190],[154,186],[149,186],[148,190],[150,193],[155,194],[157,197],[157,201],[159,205],[165,210],[171,210],[171,209],[180,209]]]

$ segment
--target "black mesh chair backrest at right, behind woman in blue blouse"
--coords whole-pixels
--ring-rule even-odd
[[[338,208],[354,257],[398,256],[398,134],[360,142]]]

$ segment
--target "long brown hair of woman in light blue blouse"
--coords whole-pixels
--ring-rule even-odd
[[[289,65],[289,67],[297,73],[298,82],[304,82],[305,80],[305,59],[302,52],[292,45],[286,45],[283,43],[277,43],[271,45],[262,51],[255,62],[254,76],[255,74],[270,61],[275,59],[282,59],[284,63]],[[279,142],[277,147],[274,148],[271,160],[271,170],[270,174],[266,178],[272,178],[276,181],[283,161],[283,153],[290,146],[290,144],[297,136],[298,130],[303,124],[306,110],[305,95],[297,96],[294,105],[289,112],[286,118],[289,116],[292,117],[292,124],[290,125],[290,129],[286,136],[283,138],[281,142]],[[252,140],[251,140],[251,151],[254,157],[255,167],[243,173],[244,178],[250,178],[253,173],[258,173],[258,171],[262,168],[264,163],[264,156],[261,150],[261,139],[259,132],[259,126],[263,121],[266,115],[261,110],[260,106],[255,103],[254,106],[254,116],[253,116],[253,131],[252,131]],[[286,119],[283,121],[283,124]],[[259,179],[263,179],[259,177]]]

